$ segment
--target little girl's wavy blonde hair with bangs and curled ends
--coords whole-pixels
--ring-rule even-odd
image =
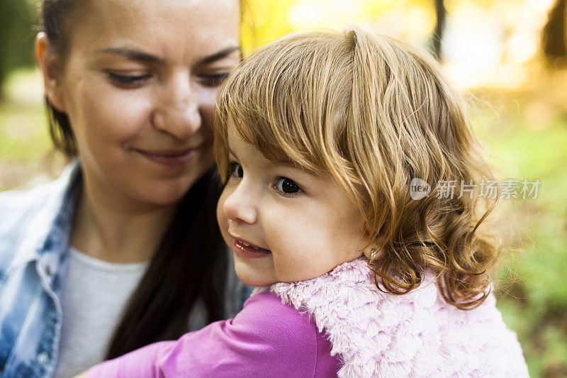
[[[444,299],[474,308],[488,295],[498,239],[478,228],[481,199],[410,196],[413,178],[490,179],[464,97],[437,62],[358,28],[296,33],[258,50],[218,94],[215,157],[228,178],[228,124],[269,160],[330,174],[364,217],[379,289],[405,294],[424,269]],[[459,189],[456,188],[459,194]],[[379,284],[380,283],[380,284]]]

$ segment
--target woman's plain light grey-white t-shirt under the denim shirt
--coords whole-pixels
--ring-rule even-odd
[[[117,264],[69,249],[55,377],[73,377],[103,360],[130,294],[149,262]]]

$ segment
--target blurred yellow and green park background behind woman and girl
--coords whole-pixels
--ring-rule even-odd
[[[499,179],[539,179],[502,199],[498,307],[532,377],[567,377],[567,0],[249,0],[245,54],[301,28],[364,25],[427,48],[476,99],[473,127]],[[39,1],[0,0],[0,191],[57,177],[33,58]]]

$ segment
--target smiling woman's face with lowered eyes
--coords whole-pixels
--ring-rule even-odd
[[[69,24],[52,104],[88,190],[174,204],[213,164],[218,84],[240,60],[237,0],[96,0]]]

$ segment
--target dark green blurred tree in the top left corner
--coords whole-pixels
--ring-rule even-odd
[[[0,98],[8,72],[33,65],[35,30],[30,25],[37,24],[35,1],[0,0]]]

